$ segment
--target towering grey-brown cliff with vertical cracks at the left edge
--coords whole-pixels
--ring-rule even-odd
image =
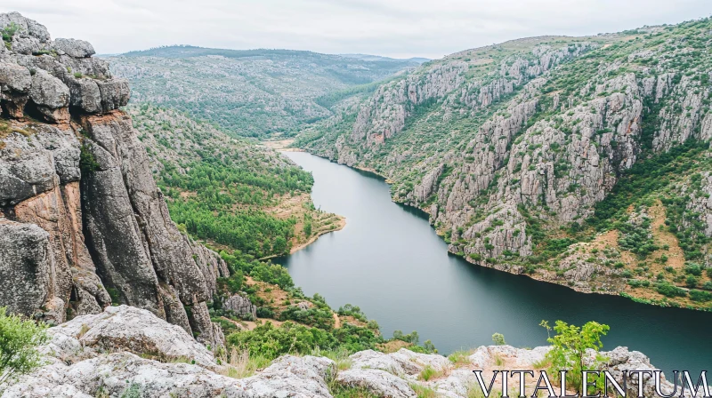
[[[219,343],[206,300],[229,271],[169,218],[127,82],[16,12],[0,28],[0,306],[59,323],[128,304]]]

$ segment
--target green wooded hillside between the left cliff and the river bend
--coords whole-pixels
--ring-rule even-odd
[[[128,107],[179,228],[229,252],[287,254],[342,220],[316,211],[312,175],[255,142],[148,104]]]

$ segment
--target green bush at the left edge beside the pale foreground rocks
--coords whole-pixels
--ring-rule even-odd
[[[0,307],[0,385],[42,365],[36,347],[47,341],[45,329]]]

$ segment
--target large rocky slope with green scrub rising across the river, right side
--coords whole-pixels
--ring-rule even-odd
[[[710,28],[458,52],[295,145],[382,174],[473,263],[709,309]]]

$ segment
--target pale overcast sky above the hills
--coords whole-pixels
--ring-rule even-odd
[[[99,53],[166,44],[442,56],[541,35],[584,36],[712,14],[711,0],[3,0]]]

